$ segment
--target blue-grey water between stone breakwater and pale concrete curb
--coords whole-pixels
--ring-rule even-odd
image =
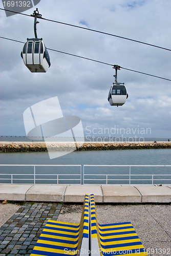
[[[81,165],[83,183],[83,165],[171,165],[170,155],[171,149],[75,151],[50,160],[48,152],[1,153],[0,164]],[[13,174],[13,179],[15,178],[13,183],[34,183],[34,166],[0,166],[0,168],[0,183],[11,183],[11,180],[8,180],[11,179],[11,175],[7,174]],[[60,179],[59,184],[80,184],[80,166],[36,166],[35,172],[36,179],[41,179],[37,180],[36,184],[56,184],[57,174]],[[106,184],[107,174],[109,175],[108,184],[129,184],[130,166],[84,166],[84,174],[87,174],[84,179],[91,179],[84,180],[86,184]],[[131,174],[134,175],[131,184],[152,184],[152,174],[158,175],[153,177],[158,179],[158,181],[154,181],[154,184],[171,184],[171,167],[168,166],[132,166]],[[77,180],[73,181],[72,179]]]

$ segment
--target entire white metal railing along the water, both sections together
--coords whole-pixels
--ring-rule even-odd
[[[9,174],[9,173],[3,173],[0,174],[0,183],[2,184],[9,184],[7,182],[2,182],[2,181],[9,181],[11,184],[50,184],[49,181],[55,181],[55,183],[53,184],[133,184],[132,182],[135,181],[148,181],[148,183],[143,183],[143,184],[158,184],[157,181],[159,183],[161,183],[161,181],[168,181],[167,184],[171,184],[171,172],[170,174],[133,174],[131,173],[131,168],[132,167],[171,167],[171,165],[83,165],[83,170],[81,168],[81,165],[64,165],[64,164],[58,164],[58,165],[40,165],[40,164],[0,164],[0,166],[20,166],[20,167],[34,167],[34,171],[30,174]],[[55,174],[43,174],[43,173],[36,173],[36,167],[59,167],[59,166],[64,166],[64,167],[79,167],[79,172],[76,174],[73,174],[73,172],[71,172],[71,170],[68,172],[68,174],[62,174],[62,173],[58,173],[57,174],[57,168],[55,169]],[[93,167],[93,171],[91,170],[91,174],[90,173],[86,173],[85,168],[87,167]],[[116,167],[117,167],[117,174],[110,174],[109,172],[107,172],[107,170],[105,169],[103,174],[100,174],[99,172],[97,172],[97,170],[95,170],[94,167],[114,167],[115,169],[113,169],[116,172]],[[118,174],[119,173],[119,167],[129,167],[127,170],[127,174]],[[47,172],[47,170],[46,170]],[[95,173],[94,173],[95,172]],[[104,174],[105,173],[105,174]],[[2,176],[10,176],[9,178],[1,178]],[[21,176],[20,178],[16,178],[16,176]],[[23,177],[22,177],[23,176]],[[24,178],[26,177],[27,178]],[[32,178],[28,178],[32,177]],[[45,176],[46,178],[42,179],[41,177]],[[51,179],[51,177],[54,177],[53,179]],[[63,176],[65,176],[65,178],[62,178]],[[76,178],[79,177],[79,178]],[[93,179],[91,179],[91,177],[94,176]],[[123,177],[124,179],[118,179],[117,177]],[[145,179],[141,179],[142,177],[148,177]],[[40,177],[40,178],[39,178]],[[50,177],[50,178],[49,178]],[[74,178],[75,177],[75,178]],[[88,178],[87,178],[88,177]],[[96,178],[97,177],[97,178]],[[102,178],[99,178],[102,177]],[[112,177],[112,178],[111,178]],[[139,177],[138,179],[135,179],[135,177]],[[158,178],[157,178],[158,177]],[[161,178],[163,177],[163,178]],[[168,179],[169,177],[169,179]],[[166,179],[164,179],[166,178]],[[17,183],[16,181],[25,181],[25,183]],[[26,183],[26,181],[32,181],[32,183]],[[41,182],[44,181],[44,183],[37,183],[37,182]],[[47,182],[45,182],[47,181]],[[63,181],[63,183],[60,183],[60,181]],[[70,182],[67,182],[70,181]],[[75,181],[77,181],[77,183],[74,183]],[[88,182],[90,181],[90,182]],[[126,183],[121,183],[121,182],[126,182]],[[120,183],[118,183],[120,182]],[[149,183],[151,182],[151,183]],[[141,183],[142,184],[142,183]],[[165,183],[164,183],[165,184]]]

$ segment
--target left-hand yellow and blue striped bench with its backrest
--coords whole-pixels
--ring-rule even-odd
[[[79,224],[48,220],[30,256],[79,255],[89,249],[89,195]]]

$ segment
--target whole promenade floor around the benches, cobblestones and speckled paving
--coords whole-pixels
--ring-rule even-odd
[[[161,187],[157,188],[160,188],[161,192]],[[171,190],[171,188],[169,189]],[[73,188],[72,190],[74,191]],[[81,197],[83,190],[79,190]],[[97,194],[96,199],[98,199]],[[0,256],[29,256],[48,220],[71,223],[80,221],[82,203],[25,202],[23,204],[21,202],[21,204],[9,219],[2,226],[0,225]],[[0,210],[2,206],[5,212],[8,204],[3,205],[1,202]],[[148,255],[170,255],[170,204],[96,202],[96,210],[100,224],[130,221]]]

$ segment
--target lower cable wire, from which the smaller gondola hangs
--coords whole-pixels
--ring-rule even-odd
[[[0,38],[7,39],[7,40],[10,40],[10,41],[15,41],[15,42],[21,42],[22,44],[25,44],[25,42],[18,41],[18,40],[14,40],[14,39],[10,39],[10,38],[3,37],[3,36],[0,36]],[[106,63],[106,62],[102,62],[102,61],[99,61],[99,60],[90,59],[90,58],[82,57],[82,56],[75,55],[75,54],[71,54],[71,53],[67,53],[67,52],[61,52],[61,51],[54,50],[54,49],[50,49],[50,48],[47,48],[47,49],[50,50],[50,51],[59,52],[59,53],[71,55],[71,56],[78,57],[78,58],[82,58],[82,59],[88,59],[88,60],[91,60],[91,61],[94,61],[94,62],[98,62],[98,63],[102,63],[102,64],[105,64],[105,65],[109,65],[109,66],[113,66],[113,67],[115,66],[115,65],[113,65],[113,64]],[[126,69],[126,68],[123,68],[123,67],[120,67],[120,68],[121,68],[121,69],[125,69],[125,70],[129,70],[129,71],[133,71],[133,72],[136,72],[136,73],[140,73],[140,74],[143,74],[143,75],[153,76],[153,77],[161,78],[161,79],[164,79],[164,80],[167,80],[167,81],[171,81],[171,79],[167,79],[167,78],[164,78],[164,77],[155,76],[155,75],[143,73],[143,72],[136,71],[136,70],[132,70],[132,69]]]

